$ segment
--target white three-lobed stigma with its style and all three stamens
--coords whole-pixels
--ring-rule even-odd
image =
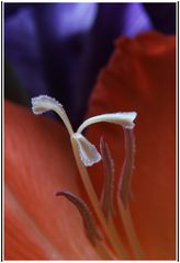
[[[47,111],[56,112],[59,117],[63,119],[67,130],[70,135],[70,141],[72,146],[72,151],[75,155],[75,159],[81,175],[81,180],[83,182],[87,194],[91,201],[91,205],[94,209],[94,214],[98,217],[98,225],[99,228],[95,227],[93,224],[93,219],[91,216],[91,211],[88,206],[80,199],[80,197],[75,196],[72,193],[67,191],[59,191],[57,195],[63,195],[67,199],[69,199],[74,205],[77,206],[78,210],[80,211],[83,220],[85,228],[88,232],[87,237],[90,238],[90,241],[95,247],[97,253],[102,259],[128,259],[128,253],[124,248],[124,244],[121,240],[116,231],[116,227],[113,221],[113,204],[114,204],[114,183],[113,183],[113,173],[114,173],[114,163],[111,158],[110,150],[108,145],[104,142],[103,139],[100,140],[100,149],[101,155],[97,150],[95,146],[92,145],[81,133],[86,129],[89,125],[106,122],[110,124],[117,124],[121,125],[124,129],[125,134],[125,161],[124,167],[122,170],[121,183],[120,188],[116,187],[116,198],[119,203],[117,213],[122,218],[126,218],[126,222],[124,224],[125,231],[127,232],[127,238],[130,239],[130,243],[132,245],[132,250],[137,259],[142,258],[140,245],[136,238],[131,214],[125,211],[127,208],[127,197],[130,195],[131,190],[131,175],[133,169],[134,160],[134,138],[133,129],[134,129],[134,119],[137,116],[136,112],[119,112],[119,113],[109,113],[109,114],[101,114],[98,116],[93,116],[85,121],[76,133],[74,133],[68,116],[63,107],[63,105],[57,102],[55,99],[49,98],[47,95],[40,95],[37,98],[32,99],[32,110],[34,114],[42,114]],[[128,139],[130,138],[130,139]],[[97,193],[93,188],[91,180],[88,174],[88,170],[86,167],[91,167],[94,163],[99,162],[100,160],[103,161],[104,167],[104,186],[102,188],[101,201],[99,201]],[[120,193],[119,193],[120,192]],[[122,201],[120,201],[120,197]],[[123,207],[124,206],[124,207]],[[88,224],[89,222],[89,224]],[[131,226],[130,230],[128,227]],[[99,230],[95,230],[99,229]],[[99,237],[98,232],[101,236],[104,235],[103,240],[95,239]],[[133,236],[131,236],[131,231]],[[105,242],[105,237],[109,240],[108,244]],[[132,239],[133,237],[133,239]]]

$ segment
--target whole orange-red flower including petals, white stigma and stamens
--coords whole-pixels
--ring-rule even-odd
[[[43,99],[53,102],[52,99]],[[76,161],[83,185],[90,187],[83,188],[81,184],[65,127],[7,102],[5,259],[173,260],[175,37],[149,33],[133,41],[121,38],[93,90],[90,118],[77,133],[65,118],[63,107],[54,103],[55,110],[60,108],[63,113],[72,148],[77,142],[77,149],[74,148]],[[38,104],[34,111],[46,111],[47,104],[46,107],[43,105]],[[135,149],[132,128],[136,114],[127,113],[132,110],[138,113],[133,178]],[[124,113],[110,115],[120,111]],[[104,113],[106,115],[102,115]],[[117,116],[121,119],[116,119]],[[112,124],[122,122],[122,117],[125,117],[124,163],[122,130]],[[126,117],[131,118],[131,126]],[[99,121],[109,123],[87,128]],[[86,137],[81,134],[83,128],[87,128]],[[101,136],[104,140],[101,139],[99,152]],[[76,155],[78,150],[80,156]],[[114,197],[113,187],[105,191],[105,183],[102,193],[103,169],[101,162],[97,163],[100,156],[109,182],[106,185],[121,192],[120,198]],[[89,164],[94,164],[88,168],[90,178],[86,169]],[[85,235],[78,210],[67,199],[56,197],[55,193],[77,206],[83,214],[83,226],[87,231],[90,228],[90,232]],[[110,203],[105,201],[106,193]],[[106,217],[104,209],[100,209],[100,195],[101,207],[111,206]],[[88,220],[89,228],[86,226]]]

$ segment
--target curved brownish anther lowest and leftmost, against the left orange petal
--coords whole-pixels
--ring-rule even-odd
[[[81,198],[79,198],[78,196],[76,196],[75,194],[72,194],[70,192],[59,191],[56,193],[56,195],[65,196],[78,208],[78,210],[82,217],[83,226],[86,229],[86,235],[87,235],[88,239],[91,241],[91,243],[93,245],[95,245],[97,241],[101,240],[101,237],[99,235],[95,222],[93,220],[92,213],[88,208],[87,204]]]

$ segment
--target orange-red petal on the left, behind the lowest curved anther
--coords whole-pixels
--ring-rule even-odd
[[[4,153],[5,260],[98,259],[76,208],[55,196],[79,194],[67,130],[8,102]]]

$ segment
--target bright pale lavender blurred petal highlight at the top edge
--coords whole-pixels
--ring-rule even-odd
[[[45,26],[52,32],[52,37],[61,41],[90,31],[97,18],[97,5],[92,2],[74,2],[48,3],[38,8],[42,12],[41,19],[44,19]]]

